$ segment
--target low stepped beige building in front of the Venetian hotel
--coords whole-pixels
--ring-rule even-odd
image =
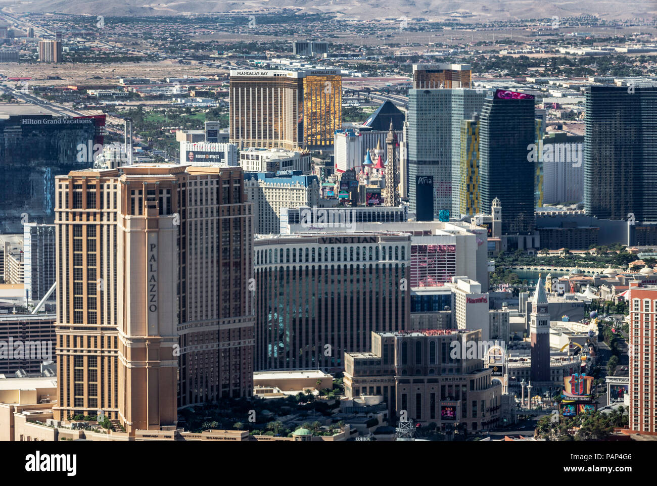
[[[372,350],[345,353],[348,398],[382,395],[391,416],[439,429],[457,422],[468,430],[495,426],[501,385],[481,359],[454,359],[452,342],[479,342],[480,330],[373,332]]]

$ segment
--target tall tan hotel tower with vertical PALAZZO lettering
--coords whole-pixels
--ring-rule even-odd
[[[56,420],[125,430],[249,396],[252,203],[238,167],[144,164],[58,176]]]

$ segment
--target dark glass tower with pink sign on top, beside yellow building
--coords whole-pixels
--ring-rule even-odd
[[[534,97],[504,89],[489,91],[479,129],[480,208],[502,203],[502,233],[534,229]]]

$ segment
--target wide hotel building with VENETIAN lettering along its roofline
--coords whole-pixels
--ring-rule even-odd
[[[342,370],[372,331],[405,330],[410,248],[401,232],[256,237],[256,370]]]

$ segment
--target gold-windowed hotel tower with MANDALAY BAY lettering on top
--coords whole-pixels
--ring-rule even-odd
[[[342,128],[340,70],[232,70],[229,96],[240,146],[332,149]]]

